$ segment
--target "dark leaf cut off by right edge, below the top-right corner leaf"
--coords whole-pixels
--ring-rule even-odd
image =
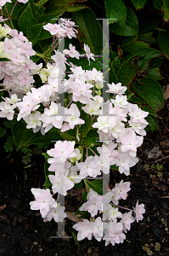
[[[161,48],[161,51],[164,52],[166,55],[169,55],[169,31],[161,31],[158,34],[157,40]]]

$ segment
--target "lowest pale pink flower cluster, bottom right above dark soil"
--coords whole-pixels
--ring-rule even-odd
[[[104,196],[98,195],[93,189],[90,189],[87,194],[87,202],[79,210],[90,212],[92,217],[95,217],[98,211],[103,212],[103,219],[100,217],[93,218],[92,221],[84,219],[83,222],[75,224],[73,228],[78,231],[78,241],[86,237],[91,240],[92,236],[94,236],[98,241],[103,238],[105,246],[109,243],[114,246],[115,243],[122,243],[126,239],[124,232],[127,233],[127,230],[131,229],[131,224],[135,220],[142,220],[142,214],[145,212],[144,204],[138,205],[138,202],[134,210],[123,214],[118,207],[115,207],[115,204],[118,204],[118,200],[127,199],[127,192],[130,190],[129,186],[130,183],[121,181],[121,183],[116,183],[115,188],[108,191]],[[135,218],[132,216],[132,212],[135,214]],[[119,219],[121,220],[118,221]]]

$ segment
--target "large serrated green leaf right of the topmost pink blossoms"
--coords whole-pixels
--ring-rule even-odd
[[[73,20],[78,29],[84,33],[85,38],[81,37],[83,43],[87,44],[93,54],[100,54],[102,51],[102,29],[99,20],[91,9],[83,9],[72,14]]]

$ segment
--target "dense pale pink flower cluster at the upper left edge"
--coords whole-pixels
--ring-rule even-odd
[[[11,61],[0,62],[0,79],[3,79],[2,86],[6,90],[14,89],[15,91],[28,92],[35,80],[31,75],[31,67],[36,64],[30,60],[30,56],[35,55],[36,51],[32,49],[32,43],[16,29],[8,29],[8,34],[12,38],[4,39],[3,52]],[[14,92],[13,92],[14,93]]]

